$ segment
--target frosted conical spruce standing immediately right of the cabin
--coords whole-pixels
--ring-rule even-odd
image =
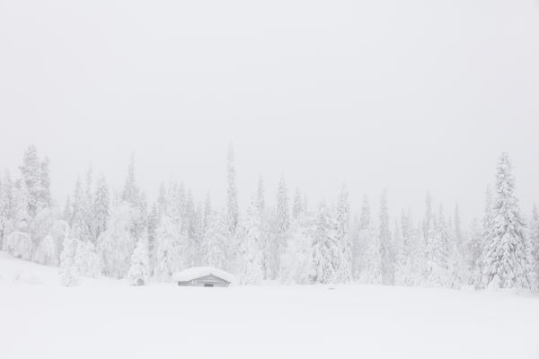
[[[263,279],[261,211],[259,211],[254,197],[241,223],[241,231],[239,233],[241,258],[240,283],[242,285],[258,285]]]

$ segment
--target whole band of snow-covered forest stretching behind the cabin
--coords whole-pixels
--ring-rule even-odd
[[[470,228],[463,228],[457,205],[438,206],[430,194],[420,217],[402,210],[392,218],[385,191],[352,209],[345,186],[338,198],[311,203],[284,179],[277,193],[267,193],[260,178],[255,193],[242,194],[251,198],[242,208],[232,147],[224,158],[223,206],[193,197],[176,180],[148,201],[137,186],[135,158],[126,168],[123,188],[109,188],[89,169],[66,203],[58,203],[50,195],[49,159],[28,147],[20,171],[5,171],[0,181],[2,249],[60,267],[63,285],[77,285],[80,276],[163,283],[181,269],[211,266],[233,273],[241,285],[537,286],[539,212],[521,213],[507,153],[486,192],[478,193],[484,212]],[[267,206],[270,196],[275,207]],[[377,213],[371,201],[379,202]]]

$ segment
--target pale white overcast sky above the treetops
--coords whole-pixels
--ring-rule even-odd
[[[175,175],[222,203],[232,141],[243,202],[284,174],[311,202],[346,182],[354,209],[388,188],[419,215],[430,190],[471,216],[508,151],[539,201],[539,2],[258,3],[0,0],[0,167],[36,144],[63,201],[134,152],[150,195]]]

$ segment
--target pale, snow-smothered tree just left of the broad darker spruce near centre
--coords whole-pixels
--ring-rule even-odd
[[[308,285],[314,277],[313,218],[301,216],[292,223],[287,249],[280,259],[279,278],[285,285]]]

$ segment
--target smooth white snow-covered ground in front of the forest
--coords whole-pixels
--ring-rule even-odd
[[[539,298],[369,285],[129,287],[0,253],[0,357],[538,358]]]

